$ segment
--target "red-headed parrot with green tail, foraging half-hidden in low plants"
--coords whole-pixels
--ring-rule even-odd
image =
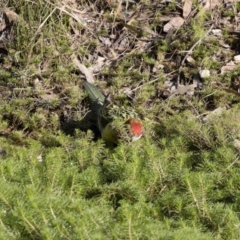
[[[117,106],[94,84],[84,81],[92,110],[97,120],[101,137],[108,145],[117,145],[120,141],[133,142],[142,137],[143,124],[132,110]]]

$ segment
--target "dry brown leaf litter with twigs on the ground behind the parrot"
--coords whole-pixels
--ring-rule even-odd
[[[185,95],[198,97],[207,85],[216,86],[214,78],[221,75],[224,77],[238,69],[240,51],[237,41],[240,16],[234,3],[229,0],[223,3],[219,0],[196,3],[192,0],[169,0],[152,1],[151,4],[136,1],[97,1],[81,4],[75,0],[59,1],[57,5],[52,5],[53,10],[42,20],[31,40],[36,40],[52,15],[68,16],[70,31],[66,33],[66,39],[72,49],[70,61],[75,70],[79,71],[82,80],[97,82],[104,88],[112,84],[112,78],[117,74],[118,63],[128,61],[131,55],[144,54],[154,59],[154,64],[146,64],[143,59],[134,57],[136,60],[126,69],[126,73],[134,70],[148,77],[142,81],[133,80],[132,83],[122,84],[119,93],[126,94],[126,97],[131,97],[133,101],[142,88],[155,85],[157,90],[155,95],[151,95],[151,102],[159,98],[167,100]],[[221,9],[221,4],[234,13],[233,18],[226,15]],[[203,20],[207,19],[209,14],[212,14],[212,17],[208,18],[208,21]],[[16,38],[11,33],[12,29],[16,27],[17,22],[24,21],[25,19],[21,19],[12,9],[1,9],[0,61],[3,62],[3,67],[7,68],[4,59],[8,57],[8,42]],[[198,26],[198,23],[201,24]],[[203,31],[199,33],[201,36],[197,36],[198,30],[194,30],[197,26],[199,32]],[[227,35],[226,28],[229,29]],[[213,43],[215,45],[212,45]],[[93,45],[90,46],[91,44]],[[78,54],[82,46],[89,50],[85,54]],[[198,59],[196,52],[201,52],[201,48],[206,46],[209,49],[213,46],[217,51]],[[218,62],[219,66],[213,68],[212,65],[205,64],[204,61],[208,59]],[[47,60],[45,63],[47,68],[49,63]],[[43,69],[38,72],[40,76],[43,73]],[[45,98],[46,101],[57,99],[56,95],[62,94],[61,91],[57,91],[58,88],[46,89],[46,86],[41,84],[42,77],[33,77],[37,79],[38,85],[32,89],[36,98],[36,93],[40,91],[43,91],[41,98]],[[218,85],[216,89],[238,95],[238,89],[235,90],[232,86],[223,83],[223,86]],[[13,90],[14,86],[6,87],[8,93]],[[63,98],[62,102],[64,101]],[[145,104],[147,103],[142,102],[142,105]]]

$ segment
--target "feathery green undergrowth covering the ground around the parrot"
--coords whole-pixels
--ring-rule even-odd
[[[136,39],[149,33],[124,28],[122,16],[111,15],[118,5],[76,4],[80,16],[91,9],[102,26],[91,30],[73,20],[77,11],[60,1],[3,1],[19,21],[4,43],[8,55],[0,69],[0,146],[6,151],[0,161],[0,238],[239,239],[239,96],[217,85],[230,86],[236,72],[213,73],[194,96],[162,96],[166,72],[182,67],[183,81],[190,82],[201,67],[219,68],[211,59],[219,43],[211,39],[194,49],[195,65],[179,65],[211,16],[192,19],[173,33],[171,44],[152,38],[150,50],[140,51]],[[128,4],[126,11],[137,9]],[[149,18],[156,33],[163,9],[178,11],[175,2],[138,4],[146,16],[157,8]],[[111,64],[96,74],[96,83],[131,102],[143,119],[144,136],[108,149],[91,117],[86,120],[84,77],[71,56],[92,66],[102,47],[99,37],[118,34],[127,35],[129,49],[117,60],[112,50]],[[153,71],[157,63],[164,69]],[[129,88],[135,90],[127,95]],[[225,108],[221,115],[209,114],[218,107]]]

